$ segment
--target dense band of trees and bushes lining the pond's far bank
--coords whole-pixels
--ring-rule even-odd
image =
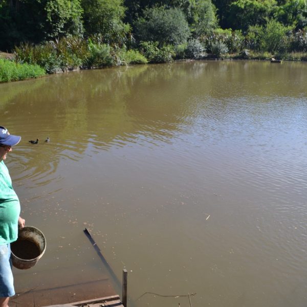
[[[0,0],[0,50],[49,73],[307,52],[307,0]]]

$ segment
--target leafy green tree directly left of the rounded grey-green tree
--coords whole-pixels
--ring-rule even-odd
[[[87,36],[100,34],[103,42],[124,42],[130,27],[123,23],[123,0],[82,0],[81,5]]]

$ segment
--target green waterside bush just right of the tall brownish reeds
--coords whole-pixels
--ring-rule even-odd
[[[105,43],[95,43],[91,39],[89,40],[89,56],[87,57],[87,67],[106,67],[114,64],[113,57],[111,55],[111,48]]]

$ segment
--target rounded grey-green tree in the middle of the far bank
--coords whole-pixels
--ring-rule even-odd
[[[160,46],[180,45],[190,35],[186,18],[178,8],[145,9],[144,17],[136,21],[135,29],[140,41],[158,41]]]

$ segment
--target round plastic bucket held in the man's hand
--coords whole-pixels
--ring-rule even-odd
[[[32,226],[25,226],[18,231],[18,239],[11,243],[11,259],[15,268],[32,268],[46,250],[46,238]]]

